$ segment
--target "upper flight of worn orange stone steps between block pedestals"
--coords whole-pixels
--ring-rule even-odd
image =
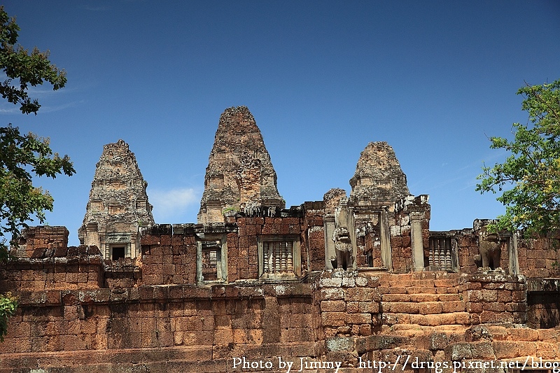
[[[379,283],[382,332],[413,337],[470,324],[458,274],[384,274]]]

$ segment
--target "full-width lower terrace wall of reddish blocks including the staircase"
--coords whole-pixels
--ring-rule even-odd
[[[556,358],[555,330],[507,326],[531,311],[527,294],[522,276],[499,272],[326,271],[311,283],[20,290],[0,372],[239,372],[232,364],[240,356],[341,361],[347,372],[360,372],[360,359],[399,354]]]

